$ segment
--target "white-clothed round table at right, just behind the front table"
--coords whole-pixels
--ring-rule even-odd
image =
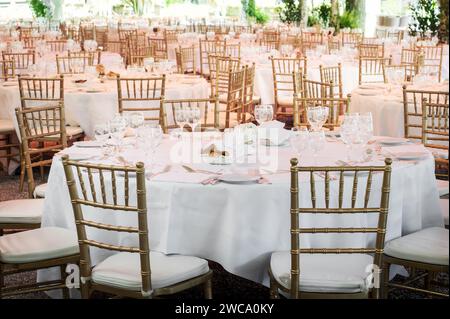
[[[408,89],[448,92],[448,84],[414,84],[409,86]],[[364,84],[353,90],[351,94],[351,112],[371,112],[375,135],[405,136],[402,87]],[[421,123],[416,124],[420,125]]]

